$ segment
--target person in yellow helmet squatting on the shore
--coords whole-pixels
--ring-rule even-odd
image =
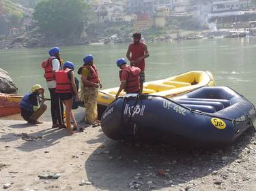
[[[38,118],[44,114],[47,106],[44,104],[44,88],[40,84],[35,84],[31,92],[24,95],[20,101],[21,116],[29,124],[40,124]]]

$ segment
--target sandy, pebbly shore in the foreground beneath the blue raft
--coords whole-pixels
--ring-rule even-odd
[[[79,126],[85,126],[83,122]],[[3,190],[255,190],[256,137],[232,146],[186,149],[113,141],[100,127],[66,136],[50,122],[1,120]]]

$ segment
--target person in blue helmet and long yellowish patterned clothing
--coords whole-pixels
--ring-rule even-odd
[[[83,58],[84,65],[79,68],[81,75],[81,98],[85,103],[85,120],[92,126],[100,125],[98,121],[97,98],[98,88],[102,88],[98,71],[94,65],[94,57],[91,54]]]

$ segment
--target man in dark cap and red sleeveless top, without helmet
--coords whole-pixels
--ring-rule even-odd
[[[145,58],[150,56],[147,45],[141,42],[141,33],[134,33],[132,35],[133,42],[129,45],[126,57],[130,60],[130,65],[139,67],[140,73],[140,87],[143,90],[143,82],[145,82]],[[130,56],[130,54],[132,54]]]

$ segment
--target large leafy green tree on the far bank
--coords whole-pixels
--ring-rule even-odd
[[[81,34],[88,13],[83,0],[48,0],[35,6],[33,19],[48,36],[74,37]]]

